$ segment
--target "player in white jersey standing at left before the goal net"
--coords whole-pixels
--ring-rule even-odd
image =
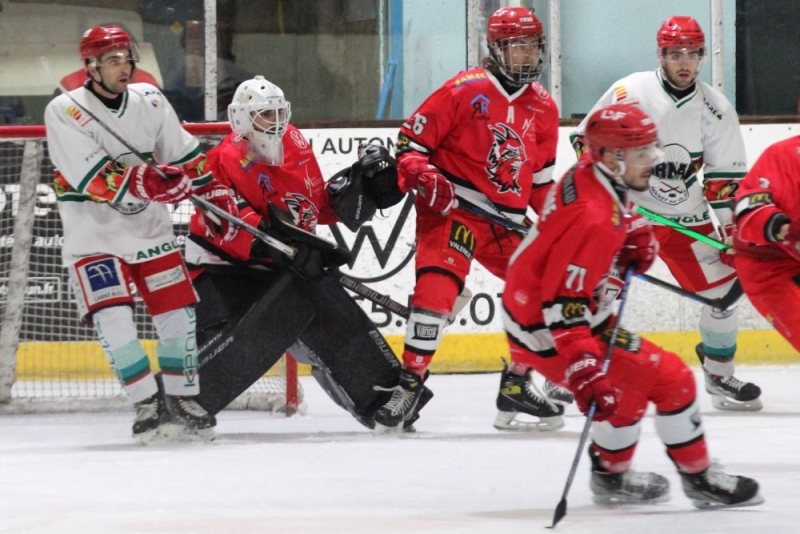
[[[78,311],[96,328],[136,407],[135,436],[175,428],[211,434],[214,418],[194,400],[200,391],[197,295],[165,204],[198,195],[236,214],[236,203],[205,169],[198,141],[181,128],[164,95],[150,84],[129,84],[139,56],[127,33],[116,26],[91,28],[81,38],[80,55],[90,79],[45,111],[63,260]],[[108,130],[151,158],[149,165]],[[209,227],[229,239],[236,233],[225,223]],[[137,337],[132,285],[158,334],[161,384]]]

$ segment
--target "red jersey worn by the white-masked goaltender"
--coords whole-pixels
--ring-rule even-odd
[[[239,216],[248,224],[258,227],[267,216],[267,205],[273,203],[289,212],[295,226],[315,232],[317,224],[338,222],[325,189],[325,180],[311,145],[300,130],[288,125],[283,136],[283,165],[267,165],[251,151],[247,140],[235,141],[236,133],[229,134],[216,147],[206,153],[214,179],[234,190],[247,203],[239,208]],[[190,225],[195,237],[208,237],[202,233],[197,211]],[[220,236],[210,241],[225,255],[248,260],[253,236],[240,231],[236,238],[222,242]],[[187,261],[207,263],[195,256],[199,251],[187,246]]]

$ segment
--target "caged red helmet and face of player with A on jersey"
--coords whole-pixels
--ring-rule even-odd
[[[489,17],[486,41],[500,72],[514,84],[539,79],[546,63],[542,21],[525,7],[501,8]]]

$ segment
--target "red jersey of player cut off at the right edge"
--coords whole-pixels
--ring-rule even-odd
[[[736,192],[737,237],[772,245],[766,230],[781,214],[791,219],[793,230],[800,228],[800,136],[767,147],[742,180]]]

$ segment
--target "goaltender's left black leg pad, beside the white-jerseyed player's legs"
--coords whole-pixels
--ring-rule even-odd
[[[197,402],[216,414],[261,378],[313,318],[289,273],[205,272],[195,280],[203,384]]]

